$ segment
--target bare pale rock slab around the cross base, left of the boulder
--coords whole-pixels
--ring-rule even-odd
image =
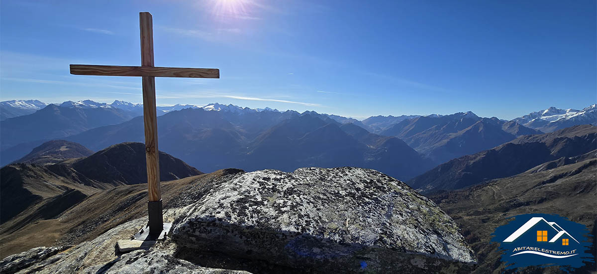
[[[173,212],[167,211],[165,218],[171,218]],[[98,238],[82,242],[72,248],[33,248],[29,251],[11,255],[1,262],[2,273],[13,266],[18,274],[26,273],[205,273],[205,274],[250,274],[245,271],[224,270],[201,267],[189,261],[174,257],[176,245],[169,241],[160,242],[149,250],[137,250],[120,256],[114,254],[114,245],[118,240],[130,238],[147,218],[141,218],[121,224]],[[47,254],[47,255],[45,255]],[[17,260],[27,261],[14,267]],[[27,259],[30,258],[30,259]],[[9,261],[5,264],[5,261]],[[13,264],[11,264],[11,262]],[[14,273],[7,270],[6,273]]]

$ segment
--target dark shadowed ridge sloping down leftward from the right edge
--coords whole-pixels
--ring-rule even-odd
[[[545,162],[589,153],[597,147],[597,127],[581,125],[542,135],[521,136],[491,150],[443,163],[408,182],[430,193],[454,190],[527,171]]]

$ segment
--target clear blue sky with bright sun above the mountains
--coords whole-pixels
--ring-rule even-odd
[[[597,101],[596,2],[2,1],[0,100],[142,102],[141,79],[69,74],[140,65],[139,12],[158,105],[210,102],[370,115],[473,111],[515,118]]]

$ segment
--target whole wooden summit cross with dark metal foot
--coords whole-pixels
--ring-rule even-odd
[[[162,218],[162,197],[159,189],[155,77],[220,78],[220,70],[153,66],[153,23],[150,13],[139,13],[139,27],[141,29],[141,66],[70,65],[70,74],[142,77],[145,159],[147,162],[147,187],[149,188],[148,226],[150,238],[157,239],[164,230],[164,219]]]

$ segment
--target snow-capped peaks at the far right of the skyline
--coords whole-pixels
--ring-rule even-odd
[[[597,104],[587,106],[582,110],[560,109],[552,106],[541,111],[531,112],[512,121],[542,132],[553,132],[577,124],[595,125],[597,124]]]

